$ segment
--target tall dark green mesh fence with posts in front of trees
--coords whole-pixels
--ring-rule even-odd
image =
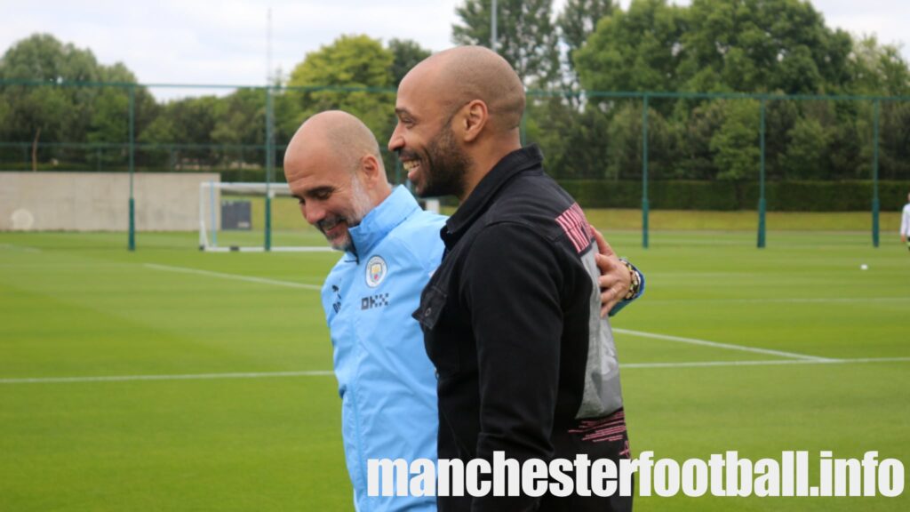
[[[208,89],[221,97],[158,103],[153,89]],[[225,181],[270,183],[283,180],[275,168],[289,138],[320,110],[357,114],[385,146],[395,125],[394,92],[0,80],[0,169],[131,176],[207,170]],[[582,206],[640,207],[644,247],[652,208],[757,210],[758,247],[765,245],[768,209],[869,210],[877,247],[879,210],[898,209],[910,182],[910,97],[534,90],[528,96],[522,138],[543,148],[548,171]],[[394,156],[384,158],[394,169],[390,179],[401,182]],[[268,224],[268,201],[266,209]],[[131,219],[130,249],[133,225]]]

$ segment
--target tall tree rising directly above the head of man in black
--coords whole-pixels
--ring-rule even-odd
[[[490,5],[489,0],[465,0],[455,8],[461,20],[460,25],[452,26],[455,44],[490,47]],[[497,53],[526,85],[551,85],[560,71],[552,0],[500,0],[497,7]]]

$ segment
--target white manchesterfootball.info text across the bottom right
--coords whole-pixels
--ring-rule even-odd
[[[904,492],[904,464],[865,452],[860,458],[835,458],[821,451],[810,462],[808,451],[785,451],[780,458],[752,461],[738,452],[713,454],[684,462],[655,459],[652,451],[637,458],[591,460],[528,459],[521,463],[494,452],[476,458],[432,461],[420,458],[369,459],[369,496],[556,497],[613,495],[672,497],[897,497]],[[817,480],[810,485],[810,465]],[[635,485],[632,485],[632,480]],[[634,487],[634,490],[633,490]]]

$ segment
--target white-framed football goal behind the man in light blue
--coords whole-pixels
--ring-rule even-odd
[[[199,184],[201,251],[331,251],[287,183]]]

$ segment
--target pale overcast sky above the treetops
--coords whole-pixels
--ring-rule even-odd
[[[455,5],[462,0],[0,0],[0,49],[35,32],[88,47],[103,64],[121,61],[141,83],[261,85],[267,74],[267,19],[272,10],[272,63],[285,74],[308,52],[342,34],[451,46]],[[621,0],[623,7],[630,0]],[[565,0],[554,0],[558,12]],[[688,4],[688,0],[677,0]],[[876,34],[903,46],[910,0],[814,0],[828,26]],[[862,11],[858,6],[862,7]],[[157,97],[207,93],[152,89]],[[213,91],[214,92],[214,91]]]

